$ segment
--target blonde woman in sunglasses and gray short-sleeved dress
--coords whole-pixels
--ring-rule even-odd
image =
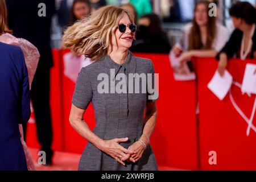
[[[150,60],[129,51],[136,31],[133,20],[127,11],[105,6],[63,36],[65,47],[94,61],[79,73],[69,117],[88,140],[79,170],[158,170],[150,146],[158,114],[156,77]],[[97,123],[93,131],[83,121],[90,102]]]

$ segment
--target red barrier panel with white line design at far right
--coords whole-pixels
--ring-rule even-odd
[[[247,63],[255,61],[230,60],[228,71],[234,81],[242,84]],[[247,137],[247,123],[238,114],[230,101],[229,94],[223,101],[207,88],[217,68],[214,59],[197,59],[198,95],[200,106],[200,156],[201,169],[205,170],[255,170],[256,133],[251,130]],[[243,113],[250,118],[255,95],[242,95],[241,89],[232,85],[232,96]],[[254,117],[253,123],[256,124]],[[209,164],[209,152],[217,154],[217,165]]]

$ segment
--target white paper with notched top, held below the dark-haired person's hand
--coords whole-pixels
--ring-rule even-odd
[[[208,88],[222,101],[232,86],[233,77],[228,71],[225,71],[221,77],[218,71],[215,72],[212,80],[208,84]]]

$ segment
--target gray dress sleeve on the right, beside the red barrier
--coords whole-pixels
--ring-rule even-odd
[[[158,73],[155,73],[155,68],[151,60],[149,72],[147,74],[147,102],[155,102],[158,100]]]

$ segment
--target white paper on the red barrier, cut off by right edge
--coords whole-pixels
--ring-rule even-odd
[[[256,64],[246,64],[242,93],[256,94]]]

